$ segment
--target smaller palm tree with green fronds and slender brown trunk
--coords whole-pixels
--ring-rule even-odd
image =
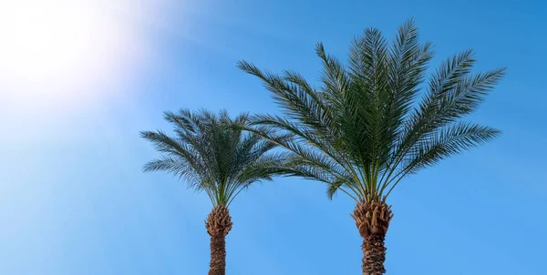
[[[205,221],[211,236],[209,275],[225,274],[225,238],[232,229],[228,207],[233,199],[251,184],[271,180],[268,166],[282,166],[284,159],[283,154],[268,152],[274,143],[242,131],[247,117],[231,119],[225,111],[217,116],[182,109],[178,114],[165,112],[165,119],[174,125],[174,137],[160,130],[140,133],[162,153],[144,171],[167,171],[190,188],[204,191],[212,201]]]

